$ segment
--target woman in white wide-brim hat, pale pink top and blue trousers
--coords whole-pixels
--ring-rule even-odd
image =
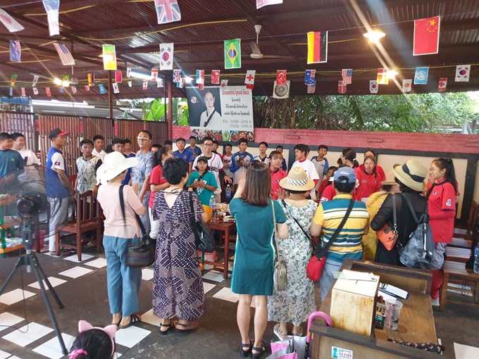
[[[135,157],[125,158],[120,152],[108,153],[104,163],[97,170],[97,199],[105,215],[103,246],[105,248],[108,272],[108,302],[113,315],[111,324],[120,328],[130,327],[139,322],[138,291],[142,282],[141,268],[125,265],[124,255],[129,244],[139,244],[141,234],[136,215],[146,212],[131,186],[123,187],[125,218],[120,206],[120,186],[125,180],[128,168],[135,167]]]

